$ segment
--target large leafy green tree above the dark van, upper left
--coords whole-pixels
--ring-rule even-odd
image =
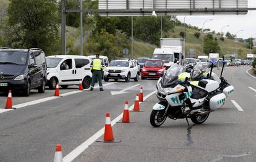
[[[53,54],[59,40],[57,10],[57,0],[11,0],[8,26],[13,31],[9,46],[38,47]]]

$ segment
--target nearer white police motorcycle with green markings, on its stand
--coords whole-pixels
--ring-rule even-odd
[[[190,118],[193,123],[202,124],[211,111],[224,104],[226,95],[218,91],[218,81],[202,79],[198,81],[198,86],[192,88],[189,75],[184,80],[179,79],[179,75],[185,71],[186,68],[175,63],[159,81],[158,93],[162,100],[151,111],[150,124],[153,127],[161,126],[166,118],[186,118],[187,124]]]

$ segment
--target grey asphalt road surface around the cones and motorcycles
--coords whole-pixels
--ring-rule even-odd
[[[248,68],[224,70],[235,94],[205,123],[190,121],[192,128],[188,129],[185,119],[166,119],[160,128],[152,128],[149,116],[158,102],[153,94],[140,104],[143,113],[130,112],[134,124],[114,124],[114,137],[122,140],[120,143],[93,142],[74,161],[256,161],[256,91],[249,88],[256,89],[256,79],[246,73]],[[104,83],[104,92],[77,92],[74,86],[61,89],[61,94],[70,92],[64,97],[0,113],[0,161],[53,161],[56,144],[62,144],[68,161],[70,152],[77,152],[77,147],[104,127],[106,112],[115,119],[122,113],[124,100],[129,100],[129,106],[133,104],[140,86],[144,96],[156,89],[156,80],[109,83]],[[124,89],[127,93],[111,95],[111,91]],[[53,94],[49,90],[30,97],[16,94],[12,100],[15,105]],[[5,102],[6,97],[0,95],[1,107]]]

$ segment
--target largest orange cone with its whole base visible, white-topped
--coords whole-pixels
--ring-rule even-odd
[[[103,140],[97,140],[97,142],[121,142],[121,140],[114,140],[112,126],[111,126],[111,119],[110,119],[109,113],[106,113],[104,139]]]

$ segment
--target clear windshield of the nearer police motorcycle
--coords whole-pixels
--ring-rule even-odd
[[[180,73],[183,73],[186,71],[185,67],[182,67],[181,65],[174,63],[165,73],[162,79],[163,86],[174,84],[178,81],[178,76]]]

